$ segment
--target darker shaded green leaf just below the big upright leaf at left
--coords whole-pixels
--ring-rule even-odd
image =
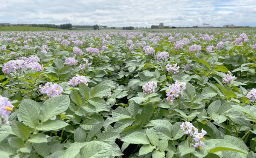
[[[12,132],[23,140],[29,138],[29,128],[19,121],[12,121]]]

